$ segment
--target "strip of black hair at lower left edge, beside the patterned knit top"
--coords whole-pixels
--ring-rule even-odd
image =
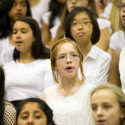
[[[3,123],[3,116],[4,116],[4,81],[5,81],[5,74],[0,67],[0,125],[4,125]]]

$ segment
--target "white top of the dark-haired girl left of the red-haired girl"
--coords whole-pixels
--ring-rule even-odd
[[[44,89],[54,84],[49,59],[26,64],[11,61],[3,68],[5,99],[8,101],[39,97]]]

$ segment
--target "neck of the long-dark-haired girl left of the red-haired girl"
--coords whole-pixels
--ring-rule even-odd
[[[31,53],[20,53],[20,58],[19,58],[19,62],[20,63],[30,63],[35,61],[36,59],[34,59],[31,55]]]

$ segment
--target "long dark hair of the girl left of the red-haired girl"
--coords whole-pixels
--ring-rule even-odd
[[[29,24],[34,38],[35,42],[32,44],[32,50],[31,50],[31,55],[34,59],[47,59],[50,57],[49,50],[47,50],[42,42],[42,37],[41,37],[41,30],[39,28],[38,23],[36,22],[35,19],[32,17],[21,17],[15,21],[22,21],[27,24]],[[14,23],[14,24],[15,24]],[[14,53],[13,53],[13,59],[16,61],[16,59],[20,58],[20,52],[15,48]]]

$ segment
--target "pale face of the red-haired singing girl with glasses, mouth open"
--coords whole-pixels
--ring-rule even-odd
[[[78,53],[71,43],[65,43],[58,48],[56,57],[56,70],[60,77],[63,78],[74,78],[78,75],[79,69],[79,57],[76,57]],[[71,56],[75,57],[73,59]],[[67,57],[65,60],[59,58]]]

